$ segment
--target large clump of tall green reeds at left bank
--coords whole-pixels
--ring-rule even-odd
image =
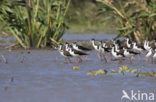
[[[60,41],[71,0],[1,0],[0,22],[24,48]]]

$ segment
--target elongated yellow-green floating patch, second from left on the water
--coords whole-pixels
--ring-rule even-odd
[[[99,69],[99,70],[90,70],[87,72],[87,75],[106,75],[107,74],[107,70],[106,69]]]

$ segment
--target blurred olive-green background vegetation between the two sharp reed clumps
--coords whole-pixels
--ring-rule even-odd
[[[71,0],[67,21],[69,33],[115,33],[116,24],[98,15],[101,4],[96,0]],[[114,20],[113,20],[114,21]]]

